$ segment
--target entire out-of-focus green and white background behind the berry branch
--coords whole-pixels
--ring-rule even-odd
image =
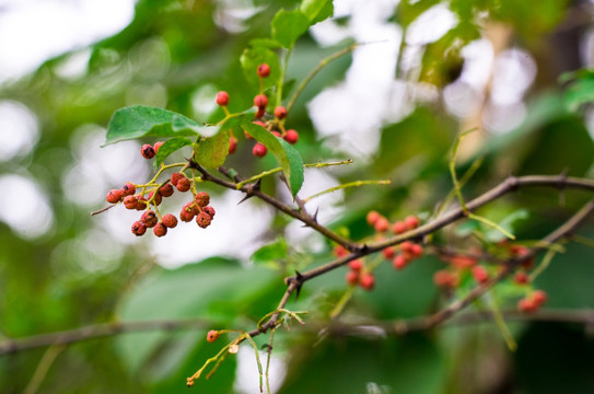
[[[105,193],[143,182],[152,169],[140,143],[101,148],[112,114],[152,105],[200,121],[222,116],[219,90],[242,111],[257,88],[240,56],[269,37],[290,0],[3,0],[0,1],[0,347],[2,341],[113,321],[203,318],[200,329],[149,332],[0,356],[2,393],[176,393],[218,351],[211,326],[252,329],[273,310],[282,277],[331,258],[333,245],[310,229],[241,195],[206,186],[217,219],[208,230],[180,225],[164,239],[133,237],[136,213],[91,217]],[[592,176],[594,63],[592,1],[335,0],[334,16],[314,25],[291,55],[296,83],[321,59],[352,44],[325,67],[289,117],[304,162],[353,159],[307,170],[302,197],[356,179],[391,179],[313,199],[321,222],[362,240],[364,216],[427,217],[452,188],[450,151],[464,140],[462,173],[477,196],[509,174]],[[570,71],[582,69],[576,74]],[[154,142],[148,140],[147,142]],[[244,175],[275,166],[241,140],[229,159]],[[180,152],[183,158],[189,152]],[[287,198],[281,183],[263,187]],[[525,190],[481,210],[520,240],[563,222],[587,194]],[[174,198],[177,207],[182,199]],[[177,210],[177,208],[175,208]],[[467,247],[469,223],[435,242]],[[580,234],[594,235],[592,223]],[[260,250],[264,245],[269,245]],[[256,251],[259,251],[255,254]],[[357,291],[345,321],[426,315],[446,299],[431,281],[434,256],[394,273],[381,266],[373,292]],[[327,322],[346,290],[345,271],[308,282],[290,308]],[[568,244],[535,286],[547,308],[590,313],[594,259]],[[517,289],[501,290],[513,309]],[[516,299],[515,299],[516,300]],[[473,305],[482,308],[484,305]],[[584,316],[586,316],[584,314]],[[584,317],[585,320],[585,317]],[[315,326],[315,325],[314,325]],[[585,323],[510,322],[511,352],[492,323],[452,325],[388,338],[370,331],[327,337],[279,332],[271,366],[280,393],[592,393],[594,340]],[[258,338],[266,344],[268,337]],[[255,393],[253,351],[242,347],[197,392]]]

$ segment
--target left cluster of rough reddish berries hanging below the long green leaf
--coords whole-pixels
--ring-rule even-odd
[[[140,154],[145,159],[152,159],[162,144],[161,141],[154,146],[143,144]],[[132,224],[131,231],[135,235],[144,235],[147,229],[152,229],[154,235],[164,236],[167,234],[167,229],[177,225],[177,218],[172,213],[161,215],[159,206],[163,198],[171,197],[175,189],[180,193],[191,190],[193,194],[191,201],[186,202],[182,208],[179,220],[189,222],[195,219],[196,223],[202,229],[206,229],[212,222],[214,208],[209,206],[209,194],[206,192],[196,193],[191,186],[193,181],[183,172],[175,172],[170,179],[162,184],[135,185],[127,182],[120,189],[109,190],[105,199],[114,205],[121,202],[126,209],[143,211],[140,220]],[[140,189],[140,192],[137,193],[137,189]]]

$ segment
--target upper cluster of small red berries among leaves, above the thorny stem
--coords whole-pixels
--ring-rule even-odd
[[[254,97],[254,105],[258,108],[254,124],[259,125],[270,131],[272,135],[278,138],[284,139],[287,142],[293,144],[299,141],[299,132],[294,129],[284,128],[284,118],[287,117],[287,108],[279,105],[273,111],[273,116],[266,113],[266,107],[268,106],[268,97],[264,94],[261,80],[270,76],[270,66],[267,63],[261,63],[256,70],[258,78],[260,79],[260,92]],[[217,93],[217,104],[223,107],[225,114],[229,116],[229,111],[226,108],[229,104],[229,93],[221,91]],[[245,132],[247,139],[253,139],[247,132]],[[229,138],[229,153],[234,153],[237,149],[237,138],[231,135]],[[264,158],[268,152],[267,148],[260,143],[256,142],[252,148],[252,153],[255,157]]]

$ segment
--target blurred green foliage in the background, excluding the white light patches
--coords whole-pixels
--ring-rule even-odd
[[[240,33],[225,28],[216,18],[229,3],[139,0],[128,27],[90,48],[84,77],[60,77],[56,70],[71,56],[65,54],[48,60],[34,74],[2,86],[0,99],[21,102],[35,113],[40,136],[31,153],[0,162],[0,171],[27,175],[42,186],[50,202],[54,225],[45,235],[30,240],[0,222],[0,343],[110,321],[200,317],[212,327],[249,331],[278,304],[286,288],[284,275],[331,258],[333,245],[328,242],[314,240],[312,247],[308,242],[292,245],[283,236],[289,221],[278,213],[270,229],[273,236],[267,234],[275,241],[254,253],[251,262],[213,256],[165,269],[147,252],[147,244],[120,242],[108,234],[108,228],[97,224],[96,218],[89,217],[89,206],[69,198],[71,189],[79,185],[65,184],[65,179],[80,162],[75,147],[83,126],[106,127],[118,108],[129,105],[163,107],[200,123],[219,120],[222,111],[202,111],[194,105],[196,97],[203,94],[213,100],[218,90],[228,90],[232,92],[231,112],[248,108],[258,83],[246,70],[266,59],[272,66],[272,76],[265,89],[272,89],[279,78],[280,45],[294,46],[281,97],[284,100],[321,59],[349,44],[321,47],[308,34],[296,39],[292,33],[295,28],[304,31],[306,21],[317,22],[330,15],[330,1],[303,1],[301,5],[295,0],[253,1],[251,16],[235,21]],[[393,15],[386,18],[392,16],[391,23],[407,28],[439,3],[450,7],[457,24],[422,48],[418,81],[430,82],[436,89],[457,78],[463,61],[459,49],[482,34],[485,27],[477,23],[477,15],[487,13],[490,22],[508,24],[514,43],[526,50],[555,55],[560,48],[550,37],[567,20],[570,8],[579,7],[558,0],[400,1]],[[275,18],[280,9],[287,11]],[[535,61],[538,70],[547,69],[546,58],[536,57]],[[333,143],[331,137],[324,139],[314,130],[306,104],[342,81],[350,66],[349,56],[331,62],[296,101],[290,120],[300,130],[296,150],[304,162],[349,155]],[[526,117],[520,126],[504,135],[485,134],[482,144],[459,161],[458,172],[463,174],[477,158],[484,158],[464,188],[467,198],[494,186],[510,173],[592,175],[594,150],[586,117],[593,101],[592,71],[566,78],[566,91],[546,81],[537,79],[532,85]],[[342,213],[329,225],[353,240],[364,240],[372,235],[364,220],[371,209],[391,220],[409,213],[428,218],[452,188],[447,162],[461,124],[440,101],[417,103],[401,119],[384,121],[375,154],[333,175],[341,183],[387,177],[392,184],[346,190],[340,202]],[[240,144],[226,165],[241,169],[244,175],[276,165],[270,155],[253,160],[249,150],[247,144]],[[263,184],[268,193],[273,193],[275,187],[270,179]],[[525,189],[479,213],[509,225],[521,241],[537,240],[589,198],[583,192]],[[463,248],[477,245],[471,231],[492,231],[464,225],[435,234],[435,243]],[[580,233],[592,235],[594,227],[589,222]],[[115,248],[116,244],[121,253],[106,260],[102,250]],[[592,309],[592,250],[566,246],[567,252],[555,256],[535,287],[549,293],[550,308]],[[435,311],[444,298],[431,277],[444,266],[434,256],[423,257],[401,273],[381,265],[375,290],[363,293],[357,289],[345,311],[346,318],[395,320]],[[307,282],[290,308],[310,311],[306,323],[327,322],[328,312],[347,289],[343,275],[345,270],[336,270]],[[513,309],[514,302],[502,308]],[[594,341],[583,328],[514,323],[512,329],[520,345],[516,354],[504,348],[493,324],[453,326],[396,339],[376,333],[319,338],[306,329],[294,329],[277,334],[273,355],[286,360],[287,376],[280,393],[592,393]],[[187,390],[185,378],[220,348],[219,343],[203,340],[206,332],[207,327],[126,334],[68,346],[49,366],[38,392]],[[258,346],[268,340],[267,336],[256,338]],[[45,352],[40,348],[0,356],[0,392],[22,393]],[[244,382],[238,382],[236,367],[236,359],[229,357],[210,380],[198,381],[193,390],[238,392]],[[252,379],[256,381],[257,376]]]

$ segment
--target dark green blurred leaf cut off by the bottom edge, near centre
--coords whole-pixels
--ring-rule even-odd
[[[321,384],[328,394],[436,394],[443,391],[446,379],[443,357],[423,335],[381,340],[347,336],[318,343],[313,351],[303,345],[291,351],[293,362],[280,390],[282,394],[318,393]]]

